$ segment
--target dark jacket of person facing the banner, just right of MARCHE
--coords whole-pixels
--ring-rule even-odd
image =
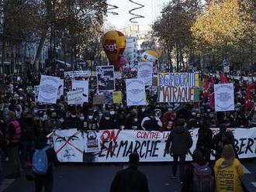
[[[165,150],[169,150],[171,146],[171,153],[177,155],[185,155],[192,147],[192,137],[184,126],[178,126],[171,130],[168,136]]]

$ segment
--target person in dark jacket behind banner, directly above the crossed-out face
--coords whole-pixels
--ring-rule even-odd
[[[63,129],[82,129],[82,123],[80,118],[77,116],[77,112],[75,110],[71,111],[71,116],[65,118],[63,124]]]

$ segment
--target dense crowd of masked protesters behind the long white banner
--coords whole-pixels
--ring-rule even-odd
[[[64,78],[61,71],[50,71],[48,74]],[[0,128],[3,138],[0,145],[5,153],[5,160],[12,160],[12,174],[9,178],[19,177],[19,159],[21,168],[25,169],[40,137],[50,134],[55,129],[77,128],[84,131],[99,131],[101,129],[173,130],[173,134],[170,134],[173,135],[172,138],[175,138],[174,140],[170,138],[170,142],[173,143],[179,142],[177,139],[183,132],[200,127],[197,149],[200,149],[203,160],[209,162],[211,149],[216,150],[216,159],[220,159],[225,146],[230,144],[234,147],[234,136],[232,138],[232,135],[228,135],[227,127],[250,128],[256,125],[256,113],[254,113],[256,84],[254,81],[243,81],[242,78],[227,76],[219,78],[216,74],[200,74],[200,79],[204,82],[204,90],[201,91],[198,103],[159,103],[157,102],[157,89],[147,87],[147,105],[129,107],[126,106],[125,79],[131,77],[136,77],[136,72],[126,71],[121,79],[116,79],[116,91],[122,91],[123,102],[112,104],[110,101],[104,105],[93,105],[93,97],[97,94],[97,78],[95,76],[78,77],[77,80],[89,80],[89,102],[77,106],[67,105],[67,98],[64,95],[56,105],[36,103],[33,87],[40,84],[40,74],[32,74],[28,71],[22,76],[5,77],[0,89]],[[222,81],[234,83],[234,111],[214,111],[211,83],[217,84]],[[70,89],[71,78],[64,79],[64,92],[70,91]],[[182,119],[182,121],[178,121],[178,119]],[[220,135],[213,137],[210,127],[220,127],[222,129]],[[186,136],[189,137],[189,135]],[[209,138],[213,142],[208,142]],[[225,139],[223,140],[223,138]],[[182,153],[174,154],[175,163],[178,158],[182,165],[185,163],[184,157],[188,152],[187,148],[192,146],[191,142],[184,143],[184,145],[187,144],[185,149],[178,149],[182,150]],[[182,146],[179,147],[182,148]],[[21,156],[19,156],[19,151]],[[200,161],[200,156],[201,154],[197,155],[195,161]],[[232,159],[232,154],[230,156]],[[223,160],[223,162],[226,161]],[[220,166],[221,163],[218,165]],[[216,169],[218,168],[216,167]],[[174,177],[176,171],[177,165],[175,164]],[[185,173],[184,166],[181,166],[180,172]],[[181,175],[181,182],[183,180],[185,178]]]

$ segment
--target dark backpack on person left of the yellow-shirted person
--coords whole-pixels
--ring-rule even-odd
[[[212,192],[213,191],[213,176],[212,170],[208,163],[204,166],[199,166],[197,163],[192,163],[193,170],[193,191],[194,192]]]

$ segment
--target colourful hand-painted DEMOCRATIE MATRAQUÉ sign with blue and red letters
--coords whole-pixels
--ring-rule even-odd
[[[159,102],[198,102],[199,74],[162,73],[158,74]]]

